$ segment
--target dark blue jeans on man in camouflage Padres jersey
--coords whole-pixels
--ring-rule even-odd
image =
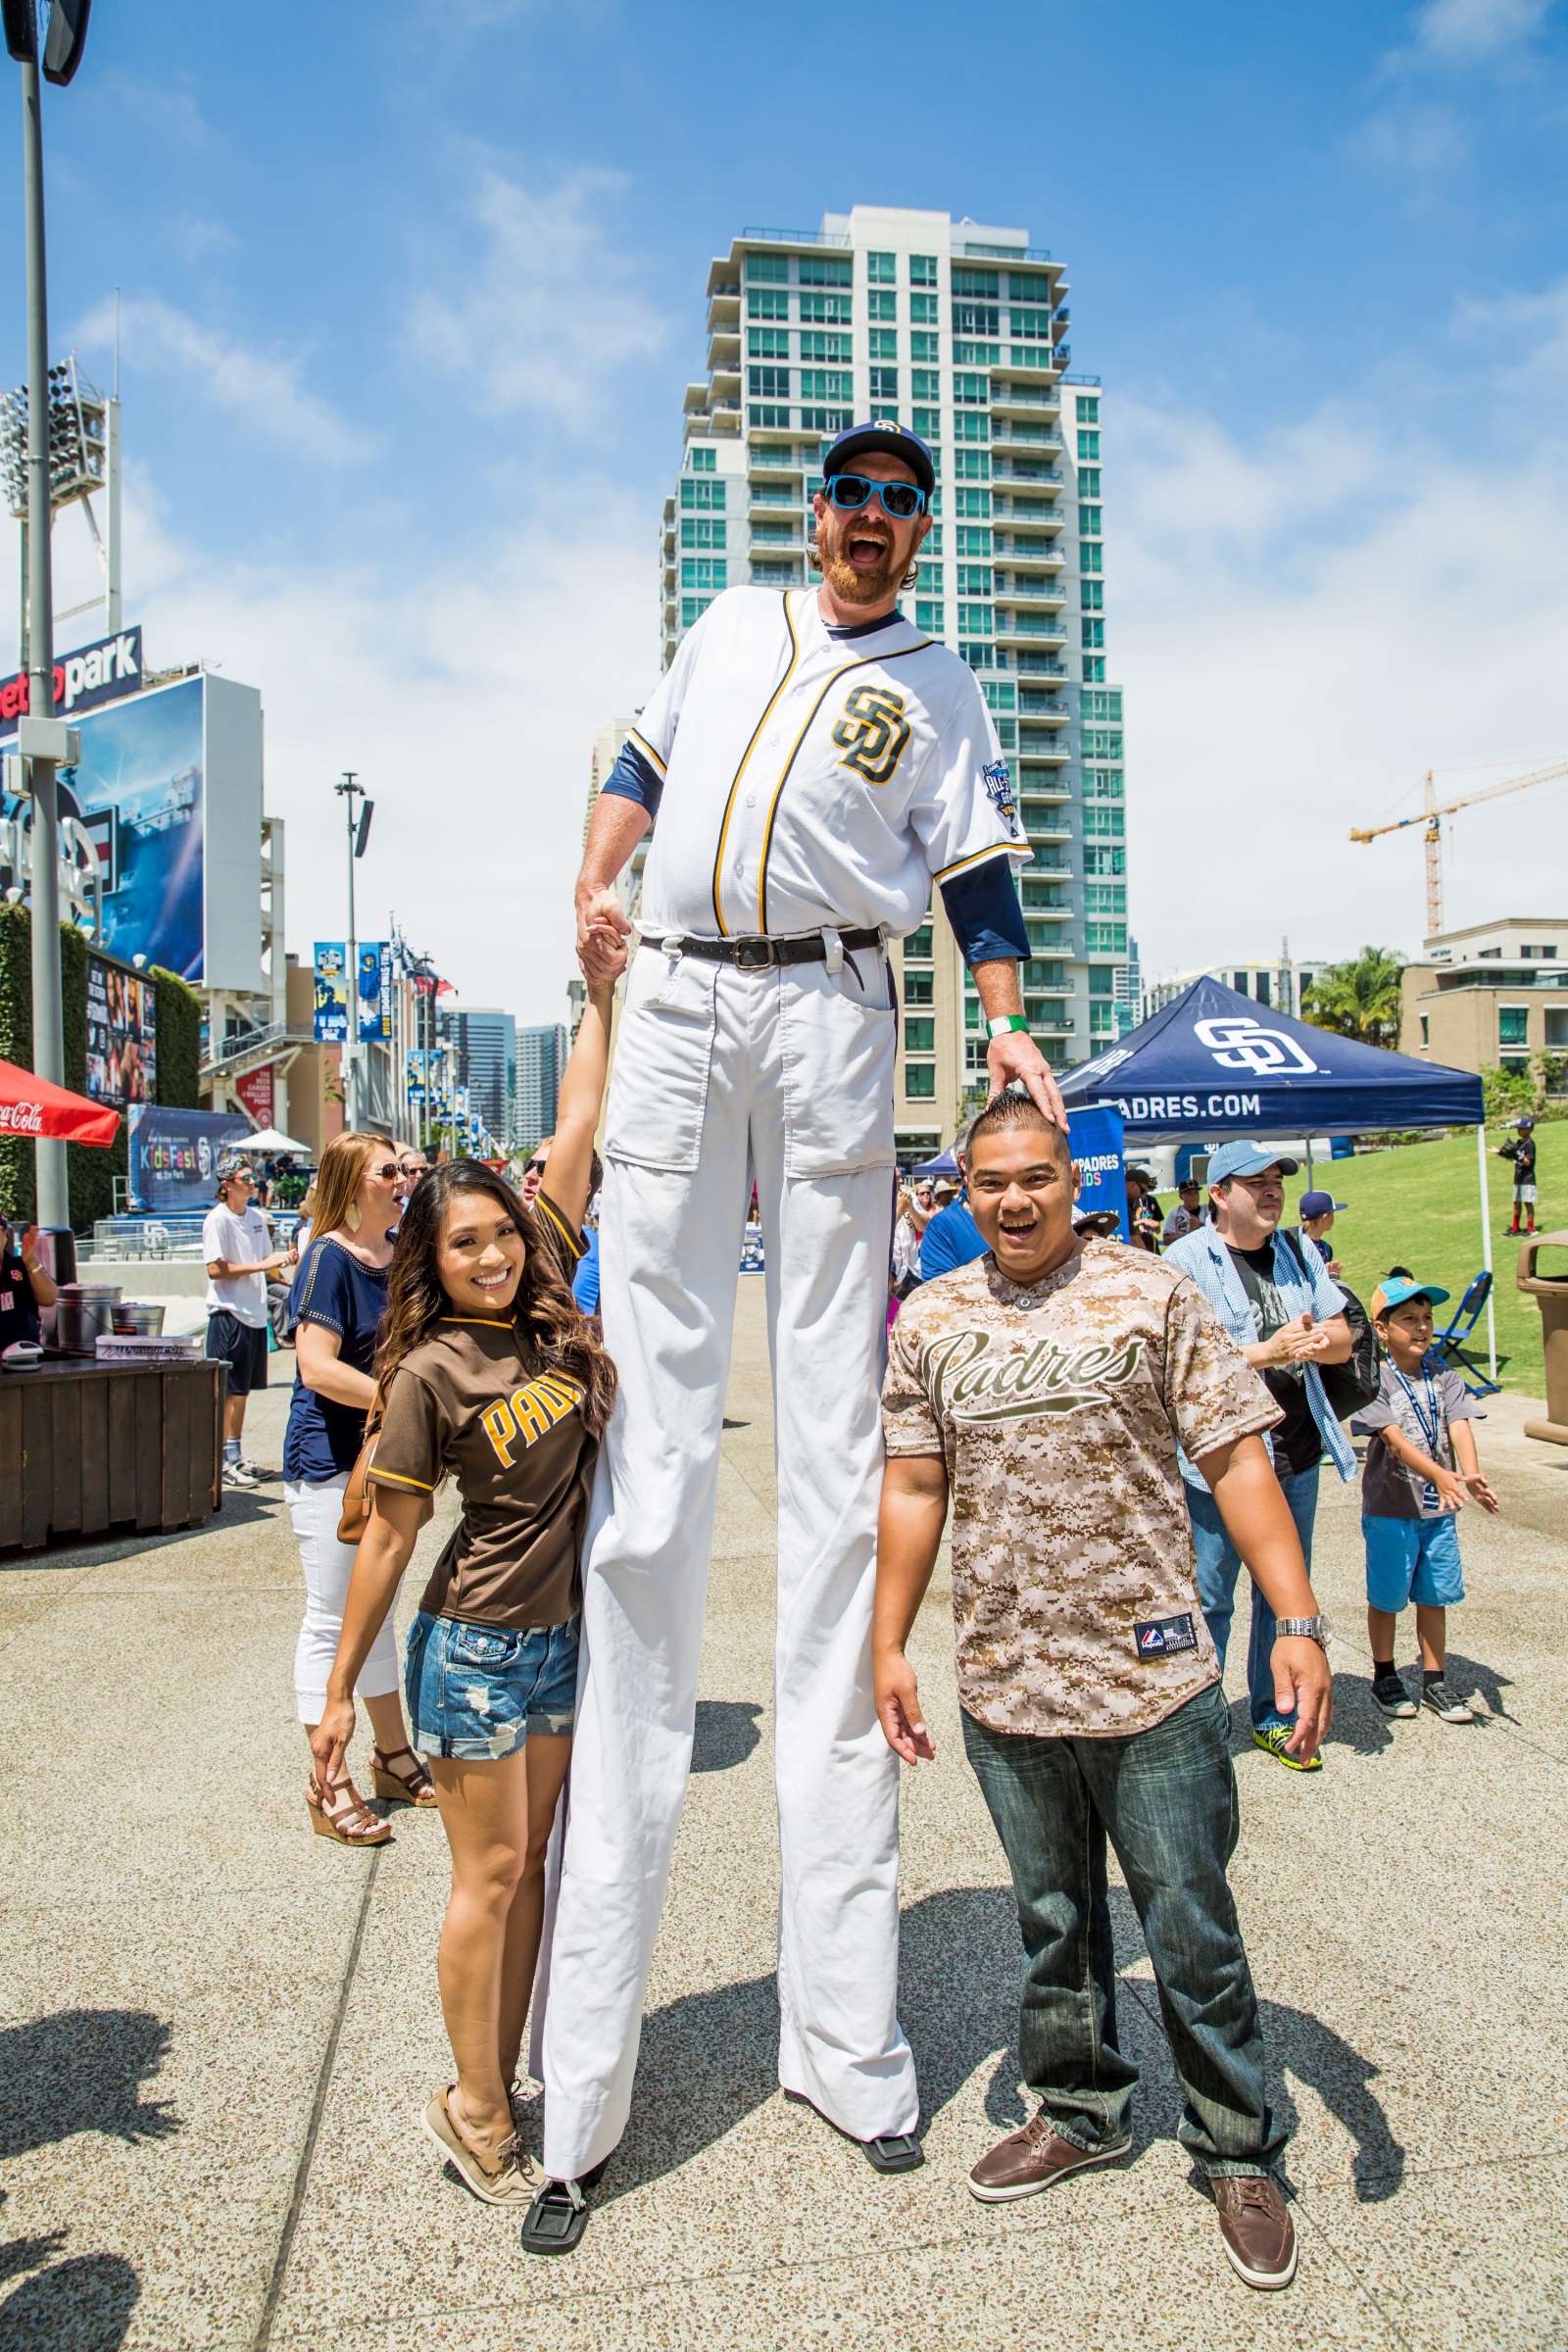
[[[1267,2171],[1286,2136],[1262,2089],[1258,1994],[1225,1877],[1239,1809],[1220,1684],[1128,1738],[961,1722],[1018,1896],[1023,2079],[1053,2126],[1074,2147],[1119,2140],[1138,2082],[1117,2042],[1110,1837],[1187,2093],[1178,2138],[1211,2176]]]

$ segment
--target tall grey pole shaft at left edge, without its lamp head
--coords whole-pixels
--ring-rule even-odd
[[[66,1028],[59,978],[59,793],[56,757],[31,753],[26,736],[54,722],[54,576],[49,548],[49,289],[45,278],[45,132],[38,59],[21,68],[21,188],[28,247],[28,722],[24,788],[33,795],[33,1070],[66,1084]],[[40,1136],[38,1223],[68,1225],[66,1145]]]

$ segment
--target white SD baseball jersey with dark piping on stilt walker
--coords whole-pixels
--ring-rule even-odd
[[[663,779],[649,931],[903,936],[933,880],[1030,858],[969,666],[900,616],[835,637],[813,588],[715,597],[632,743]]]

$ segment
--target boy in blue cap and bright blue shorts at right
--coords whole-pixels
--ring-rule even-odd
[[[1366,1632],[1373,1646],[1373,1698],[1385,1715],[1415,1715],[1394,1672],[1399,1611],[1415,1602],[1422,1665],[1422,1708],[1443,1724],[1474,1724],[1474,1710],[1450,1689],[1448,1611],[1465,1599],[1455,1519],[1465,1503],[1495,1512],[1497,1496],[1481,1477],[1481,1421],[1455,1371],[1427,1371],[1432,1308],[1448,1291],[1436,1282],[1389,1275],[1373,1298],[1373,1322],[1385,1348],[1382,1388],[1349,1423],[1371,1437],[1361,1477],[1366,1538]]]

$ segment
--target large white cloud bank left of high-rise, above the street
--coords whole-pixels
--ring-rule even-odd
[[[261,687],[266,804],[287,823],[287,938],[343,934],[346,767],[376,802],[360,931],[397,913],[470,1004],[564,1018],[571,884],[595,729],[658,680],[654,515],[588,480],[569,510],[430,557],[383,510],[324,532],[310,564],[183,536],[146,475],[125,541],[148,661]],[[369,550],[369,553],[367,553]],[[101,593],[87,536],[56,529],[56,600]],[[0,576],[0,635],[14,635]],[[75,623],[82,637],[96,621]]]

